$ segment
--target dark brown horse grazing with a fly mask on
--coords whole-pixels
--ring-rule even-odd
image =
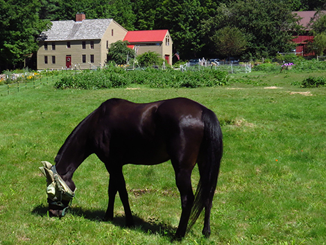
[[[67,208],[76,189],[71,179],[74,171],[95,153],[110,174],[105,219],[113,218],[114,198],[119,192],[126,225],[132,226],[123,165],[153,165],[171,159],[182,205],[175,236],[184,237],[205,208],[203,235],[209,237],[209,217],[222,151],[222,133],[216,115],[195,101],[175,98],[132,103],[109,99],[80,122],[55,157],[55,166],[49,164],[46,169],[52,176],[50,180],[48,176],[52,183],[47,189],[49,212],[53,216],[64,215],[62,210]],[[200,181],[194,195],[191,171],[196,162]]]

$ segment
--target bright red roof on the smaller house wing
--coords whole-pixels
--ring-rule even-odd
[[[128,31],[123,41],[132,42],[163,42],[168,30]]]

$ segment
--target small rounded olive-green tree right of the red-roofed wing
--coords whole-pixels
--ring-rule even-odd
[[[216,53],[223,57],[239,56],[246,50],[247,40],[237,27],[226,26],[212,36]]]

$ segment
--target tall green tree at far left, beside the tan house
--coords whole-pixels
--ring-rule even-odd
[[[37,51],[37,36],[50,26],[40,20],[38,0],[0,0],[0,70],[15,67]]]

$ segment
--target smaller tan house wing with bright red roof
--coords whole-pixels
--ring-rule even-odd
[[[172,65],[172,39],[168,30],[128,31],[123,41],[128,41],[137,55],[148,51],[159,53],[161,58]]]

